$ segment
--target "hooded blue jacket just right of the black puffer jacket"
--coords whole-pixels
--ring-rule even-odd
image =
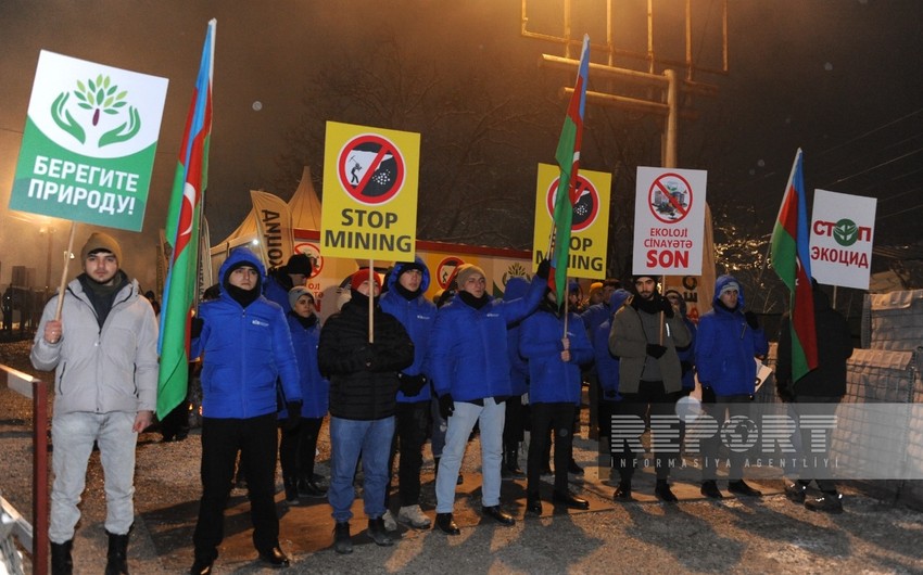
[[[394,288],[397,285],[397,278],[404,271],[406,264],[400,263],[394,266],[391,273],[388,276],[388,291],[381,296],[381,309],[391,314],[397,321],[407,330],[407,334],[414,342],[414,363],[404,369],[403,373],[407,375],[419,375],[422,373],[427,378],[431,378],[429,369],[429,346],[432,334],[432,328],[435,324],[435,304],[427,299],[423,295],[429,289],[430,274],[429,269],[423,264],[419,256],[414,258],[416,263],[422,266],[422,280],[417,297],[407,299]],[[413,396],[404,395],[404,392],[397,392],[397,401],[404,404],[416,404],[418,401],[428,401],[432,398],[430,385],[423,385],[420,393]]]

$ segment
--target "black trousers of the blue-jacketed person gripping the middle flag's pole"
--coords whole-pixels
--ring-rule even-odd
[[[531,404],[532,430],[529,439],[529,460],[527,463],[526,490],[538,494],[542,480],[542,460],[548,449],[549,437],[546,432],[536,430],[552,429],[555,437],[555,490],[567,493],[567,469],[573,456],[573,413],[577,406],[568,403]]]

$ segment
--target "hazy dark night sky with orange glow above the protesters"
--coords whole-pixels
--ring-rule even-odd
[[[605,3],[573,4],[576,11],[592,13],[574,15],[572,37],[579,38],[585,28],[594,42],[603,42],[605,27],[599,14],[605,14],[599,10]],[[615,26],[619,41],[632,49],[643,48],[644,22],[637,21],[637,14],[646,1],[614,4],[623,9]],[[530,30],[559,35],[561,5],[560,0],[531,0]],[[670,36],[679,20],[672,12],[681,16],[681,5],[679,1],[655,2],[655,12],[663,14],[657,28],[660,46],[669,48],[675,40]],[[718,8],[717,0],[694,2],[694,9],[709,18]],[[37,280],[42,284],[48,241],[39,230],[53,228],[53,252],[58,254],[69,228],[64,220],[7,212],[40,50],[169,79],[144,229],[141,234],[117,234],[125,251],[137,254],[138,264],[126,265],[128,271],[150,284],[153,266],[148,263],[153,261],[157,230],[163,226],[211,17],[217,18],[218,26],[206,216],[217,241],[249,212],[251,189],[266,189],[286,199],[294,191],[300,169],[286,157],[287,152],[291,156],[291,135],[317,133],[327,119],[342,119],[312,117],[312,112],[324,106],[306,107],[305,94],[317,97],[313,82],[318,74],[336,77],[345,74],[345,66],[356,65],[375,68],[379,55],[375,39],[381,34],[400,39],[405,66],[434,69],[441,77],[464,75],[489,86],[500,86],[498,77],[507,84],[510,77],[521,77],[527,90],[572,85],[572,75],[538,68],[541,53],[562,55],[562,47],[523,38],[519,10],[518,0],[3,0],[0,210],[8,217],[0,229],[0,284],[9,283],[11,266],[23,264],[38,268]],[[719,90],[713,98],[697,97],[692,102],[698,118],[681,125],[680,167],[707,169],[709,201],[723,203],[729,212],[754,206],[759,216],[754,233],[762,235],[771,231],[770,220],[800,146],[809,190],[878,199],[876,244],[918,241],[916,221],[923,216],[923,35],[919,33],[923,2],[731,0],[729,12],[730,71],[726,75],[696,74],[696,79]],[[709,39],[719,29],[718,21],[708,20],[700,26],[696,28],[700,39],[696,58],[703,65],[711,65],[715,46]],[[605,54],[594,52],[593,61],[605,62]],[[657,67],[657,72],[661,69]],[[605,84],[591,76],[591,89],[604,90]],[[536,107],[559,110],[547,126],[523,138],[529,145],[495,158],[532,175],[531,180],[523,178],[517,184],[528,195],[534,190],[534,165],[554,161],[566,104],[557,100],[555,89],[518,98],[527,103],[523,105],[531,98],[539,102]],[[629,115],[616,110],[608,114],[615,122],[621,122],[619,115]],[[589,112],[587,133],[600,130],[592,125],[597,117],[597,112]],[[420,131],[426,163],[427,142],[437,135]],[[658,141],[642,143],[659,150]],[[617,152],[587,148],[584,167],[615,168]],[[323,162],[320,157],[305,159],[317,166]],[[633,173],[635,168],[620,169]],[[315,170],[315,178],[319,177]],[[320,189],[319,181],[316,183]],[[420,193],[423,203],[431,201],[434,191],[421,189]],[[526,208],[531,212],[531,204]],[[485,216],[483,226],[502,227],[504,221],[503,214],[493,219]],[[86,227],[79,227],[78,242],[87,233]],[[433,235],[432,230],[428,233]],[[531,238],[531,233],[521,235]],[[53,266],[52,274],[60,274],[59,265]]]

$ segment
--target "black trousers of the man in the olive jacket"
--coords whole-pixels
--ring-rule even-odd
[[[632,416],[643,421],[648,421],[649,416],[674,416],[677,412],[677,399],[679,394],[668,394],[663,387],[663,382],[660,381],[644,381],[638,384],[637,393],[622,393],[622,400],[617,404],[617,416]],[[677,445],[679,445],[679,422],[677,429],[665,429],[666,433],[674,433],[677,436]],[[619,476],[622,482],[631,482],[636,467],[635,459],[643,457],[643,453],[635,453],[631,450],[628,442],[615,438],[611,440],[610,449],[615,459],[615,468],[619,471]],[[666,480],[670,476],[670,458],[675,458],[675,453],[654,452],[653,464],[658,480]]]

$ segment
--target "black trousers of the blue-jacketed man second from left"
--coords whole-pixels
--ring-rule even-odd
[[[279,545],[276,490],[276,413],[248,419],[202,420],[202,500],[192,542],[195,557],[214,560],[224,539],[224,515],[238,451],[246,477],[253,546],[268,551]]]

